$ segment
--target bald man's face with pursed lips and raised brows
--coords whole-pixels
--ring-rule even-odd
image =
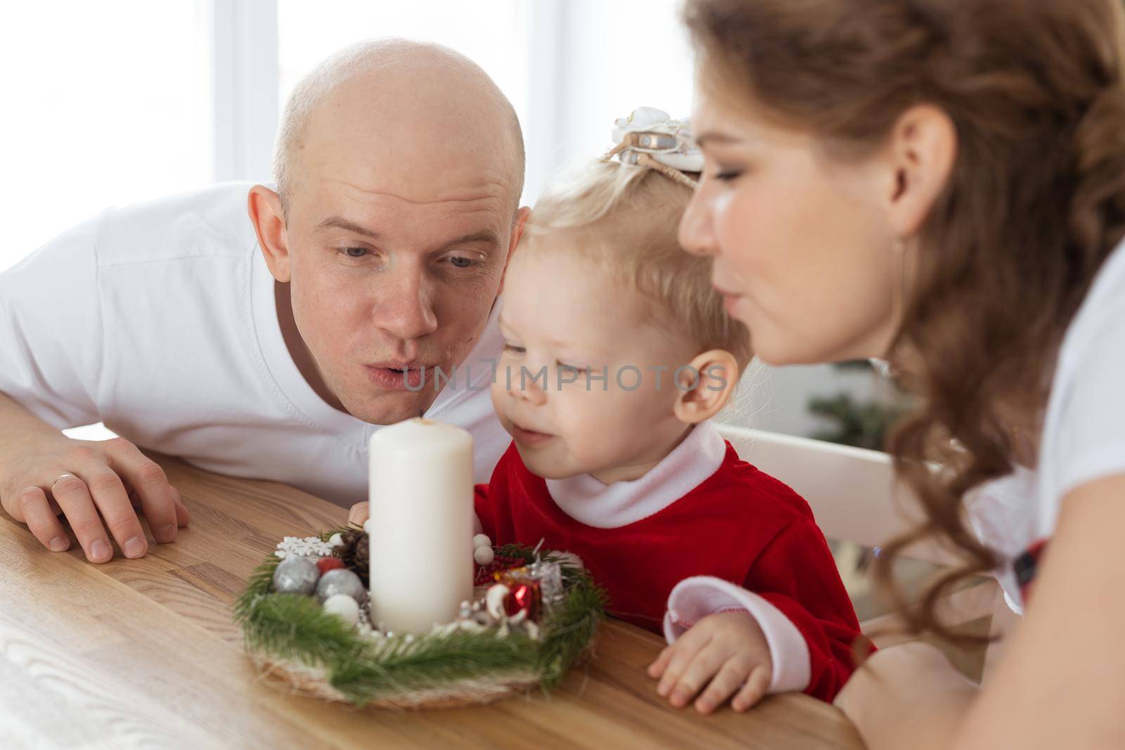
[[[286,219],[297,328],[344,408],[372,424],[424,413],[430,370],[469,354],[513,229],[512,175],[411,135],[310,137]],[[424,387],[404,381],[422,367]]]

